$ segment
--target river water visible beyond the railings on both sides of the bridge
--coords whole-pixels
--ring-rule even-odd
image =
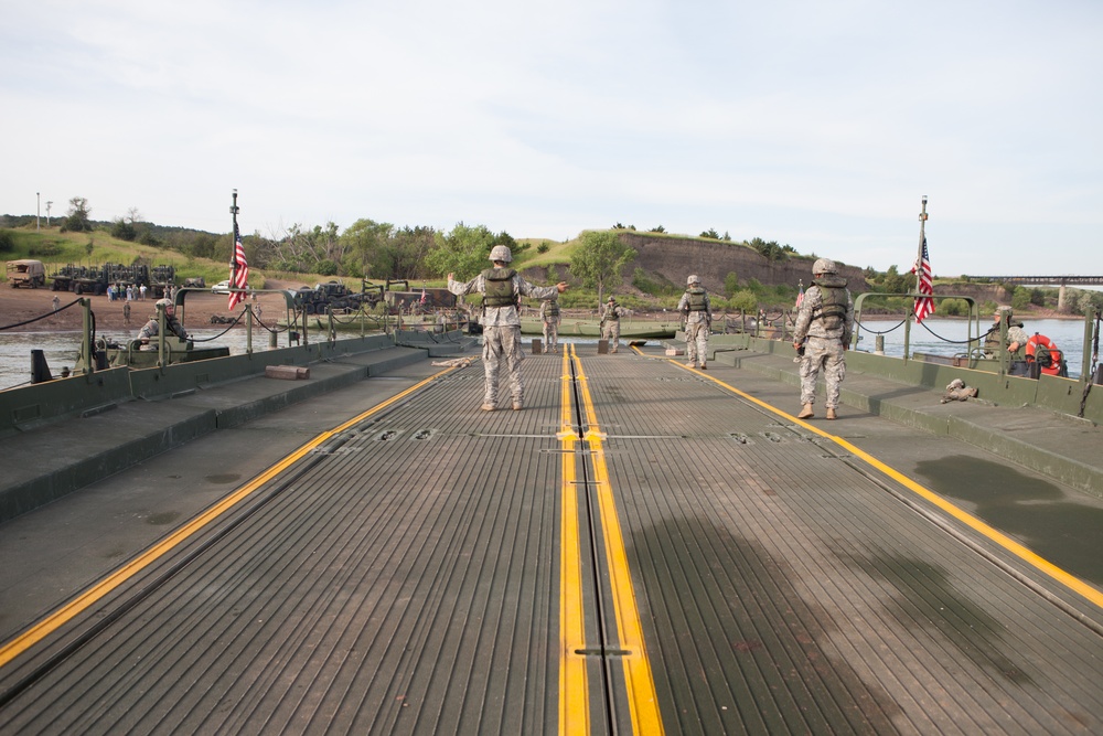
[[[982,322],[981,329],[987,330],[990,322]],[[975,329],[975,328],[974,328]],[[1081,351],[1084,342],[1084,323],[1082,320],[1032,320],[1026,323],[1028,334],[1040,332],[1048,335],[1059,348],[1065,351],[1069,363],[1069,376],[1079,377],[1081,372]],[[865,320],[859,329],[857,349],[874,351],[875,332],[885,332],[885,354],[903,355],[903,326],[899,319]],[[137,328],[111,334],[118,340],[135,338]],[[215,338],[210,344],[226,345],[234,355],[246,352],[246,332],[244,329],[233,329],[222,334],[221,330],[192,330],[196,340]],[[911,326],[910,350],[912,353],[933,353],[936,355],[954,355],[965,351],[963,341],[967,338],[968,328],[964,320],[929,318],[922,324]],[[281,345],[286,345],[286,337]],[[567,339],[564,342],[595,342],[595,340]],[[11,388],[31,381],[31,350],[42,349],[46,363],[53,375],[61,374],[63,366],[73,366],[81,346],[79,332],[8,332],[0,333],[0,390]],[[268,350],[268,333],[257,329],[253,333],[253,350]]]

